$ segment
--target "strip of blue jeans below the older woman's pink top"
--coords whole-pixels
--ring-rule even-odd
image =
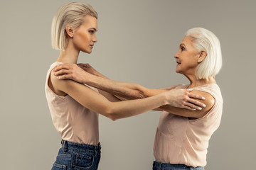
[[[153,170],[204,170],[204,167],[198,166],[193,168],[192,166],[186,166],[185,164],[165,164],[161,162],[153,163]]]

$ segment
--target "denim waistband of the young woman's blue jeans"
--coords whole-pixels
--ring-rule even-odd
[[[66,140],[61,140],[62,147],[64,152],[81,152],[81,153],[93,153],[97,154],[100,153],[100,142],[97,146],[94,145],[87,145],[87,144],[80,144],[75,142],[69,142]]]

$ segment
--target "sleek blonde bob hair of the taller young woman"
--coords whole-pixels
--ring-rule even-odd
[[[56,11],[51,27],[51,42],[55,50],[65,51],[68,44],[68,35],[65,27],[69,24],[78,28],[84,22],[85,16],[97,18],[97,12],[89,4],[80,2],[68,2]]]

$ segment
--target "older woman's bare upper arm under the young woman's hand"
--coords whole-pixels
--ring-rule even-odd
[[[192,94],[198,94],[201,96],[204,96],[206,98],[206,100],[199,100],[196,99],[204,104],[206,104],[205,108],[202,108],[202,110],[196,110],[196,111],[190,111],[188,109],[185,108],[175,108],[173,106],[161,106],[159,108],[159,110],[161,111],[166,111],[175,115],[181,115],[183,117],[188,117],[188,118],[202,118],[204,115],[206,115],[210,109],[213,107],[214,103],[215,103],[215,99],[213,98],[213,96],[211,96],[210,94],[208,94],[207,92],[204,91],[197,91],[197,90],[193,90],[191,91]]]

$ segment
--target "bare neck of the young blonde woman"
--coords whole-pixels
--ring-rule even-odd
[[[76,64],[78,62],[79,52],[71,43],[68,43],[65,51],[60,52],[57,62]]]

